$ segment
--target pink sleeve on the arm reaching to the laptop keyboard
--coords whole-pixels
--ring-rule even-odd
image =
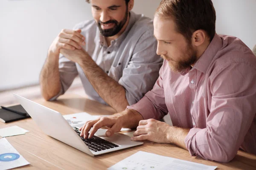
[[[160,120],[168,113],[164,97],[163,79],[161,76],[162,69],[163,67],[160,69],[160,75],[153,89],[148,91],[139,102],[127,107],[128,109],[138,111],[143,116],[143,119]]]

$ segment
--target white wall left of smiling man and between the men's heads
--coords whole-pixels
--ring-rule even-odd
[[[153,17],[160,0],[135,0]],[[0,0],[0,91],[38,84],[47,49],[62,28],[92,19],[85,0]]]

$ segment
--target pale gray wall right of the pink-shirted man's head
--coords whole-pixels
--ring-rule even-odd
[[[256,0],[212,0],[216,32],[239,37],[250,49],[256,45]]]

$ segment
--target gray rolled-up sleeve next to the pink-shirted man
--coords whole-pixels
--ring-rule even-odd
[[[127,68],[122,71],[119,84],[125,88],[129,105],[138,102],[149,90],[159,76],[163,59],[156,54],[157,41],[153,30],[146,31],[138,40]]]

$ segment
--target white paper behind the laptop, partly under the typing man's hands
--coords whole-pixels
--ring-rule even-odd
[[[102,115],[90,115],[86,112],[75,113],[75,114],[68,114],[64,115],[63,117],[67,120],[71,127],[82,127],[85,122],[93,119],[97,119],[99,116]],[[109,116],[109,115],[104,115]],[[122,128],[121,131],[128,131],[131,130],[129,128]]]

